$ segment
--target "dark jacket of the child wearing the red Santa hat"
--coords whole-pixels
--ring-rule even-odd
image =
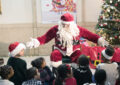
[[[15,85],[22,85],[22,82],[26,80],[26,62],[20,58],[10,57],[7,64],[14,69],[14,75],[10,78],[10,81]]]

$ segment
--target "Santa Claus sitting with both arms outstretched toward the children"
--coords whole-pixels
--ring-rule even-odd
[[[100,46],[107,44],[103,37],[78,26],[74,22],[73,16],[70,13],[65,13],[61,16],[58,25],[51,27],[43,36],[31,39],[30,42],[27,42],[27,47],[37,48],[39,45],[55,39],[55,47],[50,59],[52,66],[58,67],[62,64],[62,56],[69,56],[72,62],[77,61],[77,58],[81,55],[80,37],[97,43]]]

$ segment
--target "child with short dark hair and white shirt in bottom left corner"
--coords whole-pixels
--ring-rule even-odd
[[[9,81],[14,75],[14,70],[11,66],[5,65],[0,67],[0,85],[14,85],[13,82]]]

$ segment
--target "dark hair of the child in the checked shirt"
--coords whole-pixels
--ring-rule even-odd
[[[35,75],[37,75],[37,68],[36,67],[31,67],[27,70],[27,80],[30,80],[34,78]]]

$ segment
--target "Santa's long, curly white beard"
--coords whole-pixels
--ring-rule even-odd
[[[60,24],[58,27],[58,34],[63,47],[67,47],[66,55],[70,56],[70,54],[73,52],[73,38],[75,39],[75,37],[79,35],[79,29],[77,28],[77,25],[71,23],[69,28],[63,28],[63,26]]]

